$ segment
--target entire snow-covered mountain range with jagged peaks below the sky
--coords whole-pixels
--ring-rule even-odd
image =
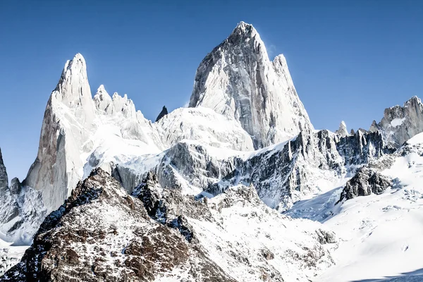
[[[36,234],[0,281],[348,281],[418,266],[361,271],[400,255],[384,234],[417,224],[417,97],[368,131],[314,130],[285,59],[247,23],[200,63],[189,107],[154,123],[126,94],[92,97],[86,69],[81,54],[66,62],[22,183],[0,153],[0,274]],[[407,262],[417,234],[395,237]]]

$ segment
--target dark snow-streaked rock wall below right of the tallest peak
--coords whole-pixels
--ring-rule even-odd
[[[283,212],[302,195],[319,190],[322,180],[334,182],[385,153],[380,133],[357,132],[339,138],[327,130],[303,131],[274,149],[259,151],[245,161],[231,161],[233,170],[207,191],[218,195],[231,185],[253,183],[269,207]]]

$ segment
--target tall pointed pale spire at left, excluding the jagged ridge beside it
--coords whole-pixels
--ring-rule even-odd
[[[49,210],[61,205],[80,180],[81,148],[94,120],[87,69],[82,55],[67,61],[56,89],[47,103],[39,138],[37,159],[23,184],[42,191]]]

